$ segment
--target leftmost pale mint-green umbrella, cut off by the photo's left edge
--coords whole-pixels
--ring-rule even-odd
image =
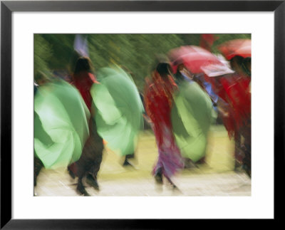
[[[40,86],[34,110],[34,150],[44,167],[67,167],[78,160],[90,117],[78,90],[62,80]]]

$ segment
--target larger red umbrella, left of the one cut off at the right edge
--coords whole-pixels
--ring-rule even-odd
[[[203,66],[211,64],[223,65],[219,58],[214,54],[199,46],[181,46],[174,48],[169,53],[170,61],[172,61],[172,70],[177,72],[177,66],[184,64],[191,73],[202,73]]]

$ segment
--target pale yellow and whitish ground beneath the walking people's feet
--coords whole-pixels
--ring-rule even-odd
[[[152,132],[142,132],[137,149],[137,169],[124,168],[115,153],[104,152],[98,174],[100,192],[91,187],[86,190],[93,196],[250,196],[251,179],[233,169],[234,142],[223,127],[213,127],[209,133],[207,164],[197,169],[185,169],[175,178],[180,191],[169,184],[155,185],[150,174],[157,158],[157,147]],[[38,196],[78,196],[76,179],[63,170],[42,169],[35,188]]]

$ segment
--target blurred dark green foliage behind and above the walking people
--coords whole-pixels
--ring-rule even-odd
[[[35,34],[34,68],[43,72],[51,70],[73,71],[76,55],[73,49],[75,34]],[[128,68],[139,90],[144,78],[150,74],[155,54],[167,53],[171,48],[185,45],[199,46],[200,34],[86,34],[89,56],[95,67],[116,63]],[[251,34],[215,34],[217,46],[236,38],[251,38]]]

